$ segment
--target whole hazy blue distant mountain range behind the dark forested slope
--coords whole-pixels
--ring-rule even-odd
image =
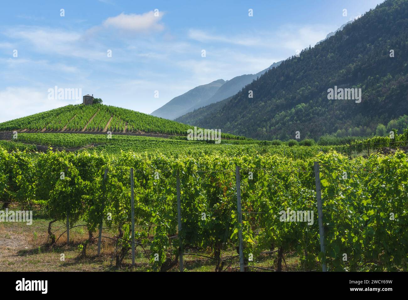
[[[237,76],[225,82],[223,79],[219,79],[211,82],[210,84],[197,86],[196,88],[189,90],[187,93],[173,98],[162,107],[151,113],[151,115],[173,120],[192,110],[195,110],[196,108],[224,100],[232,95],[235,95],[244,86],[251,83],[253,80],[256,80],[257,77],[261,76],[269,69],[279,66],[281,63],[282,61],[274,62],[271,66],[256,74]],[[220,83],[223,84],[218,86]]]

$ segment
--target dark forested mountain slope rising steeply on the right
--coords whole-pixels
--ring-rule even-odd
[[[407,41],[408,1],[387,0],[233,97],[176,120],[256,139],[369,135],[408,114]],[[336,87],[361,89],[361,102],[331,99]]]

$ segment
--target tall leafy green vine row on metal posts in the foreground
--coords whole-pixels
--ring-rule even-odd
[[[275,248],[280,257],[297,254],[304,269],[407,270],[408,162],[402,152],[353,160],[330,152],[294,161],[276,155],[174,160],[131,152],[114,158],[47,152],[32,159],[4,150],[0,161],[0,199],[26,210],[40,205],[50,228],[68,216],[71,225],[83,220],[94,232],[103,220],[118,228],[119,256],[132,241],[149,245],[153,270],[180,265],[180,254],[193,249],[211,249],[221,270],[226,249],[241,249],[242,264],[254,265]],[[314,161],[321,167],[322,214]],[[322,243],[319,222],[299,221],[298,212],[322,216]]]

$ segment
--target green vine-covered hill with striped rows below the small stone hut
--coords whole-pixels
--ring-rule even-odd
[[[0,131],[112,131],[186,135],[191,126],[154,117],[126,108],[94,105],[68,105],[43,113],[0,123]]]

